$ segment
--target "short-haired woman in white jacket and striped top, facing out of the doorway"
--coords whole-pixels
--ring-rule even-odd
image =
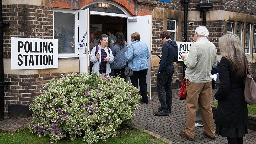
[[[92,73],[110,73],[110,63],[114,61],[114,56],[108,44],[108,36],[100,36],[100,44],[93,47],[90,61],[93,62]]]

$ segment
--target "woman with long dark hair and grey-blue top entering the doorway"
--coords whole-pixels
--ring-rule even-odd
[[[120,75],[120,78],[124,78],[126,81],[124,70],[127,65],[127,60],[124,57],[124,53],[127,51],[127,44],[125,43],[123,33],[116,33],[116,42],[113,44],[111,50],[114,56],[114,62],[110,64],[110,68],[114,70],[115,77]]]

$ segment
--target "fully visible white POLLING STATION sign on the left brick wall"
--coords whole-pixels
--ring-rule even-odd
[[[58,68],[58,39],[12,38],[12,70]]]

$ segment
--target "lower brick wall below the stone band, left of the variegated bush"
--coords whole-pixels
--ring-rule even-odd
[[[4,74],[4,81],[10,82],[10,85],[4,87],[4,115],[8,115],[8,104],[33,103],[40,89],[52,78],[59,78],[61,74]]]

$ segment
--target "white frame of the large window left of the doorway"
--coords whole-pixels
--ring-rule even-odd
[[[54,8],[54,12],[61,12],[61,13],[72,13],[75,14],[75,29],[74,29],[74,49],[75,53],[74,54],[59,54],[59,58],[77,58],[78,57],[78,12],[76,10],[71,10],[71,9],[59,9],[59,8]],[[54,20],[53,20],[54,22]],[[54,23],[53,23],[54,26]],[[54,29],[54,28],[53,28]],[[54,37],[54,30],[53,30],[53,37]]]

